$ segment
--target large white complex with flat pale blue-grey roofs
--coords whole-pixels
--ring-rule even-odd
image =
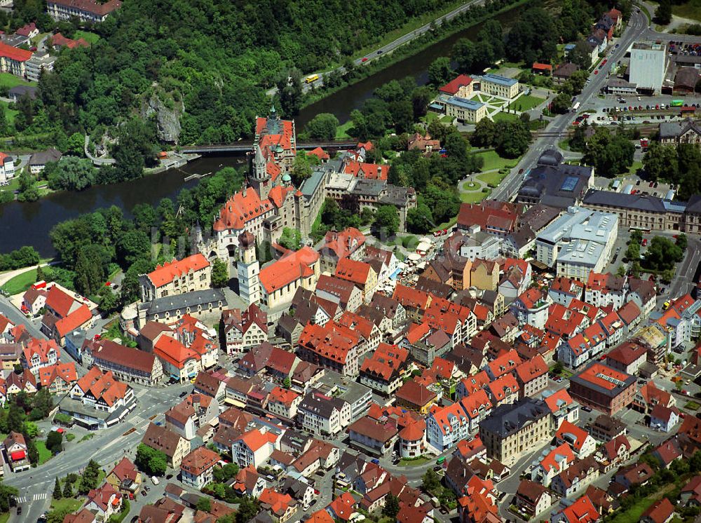
[[[618,216],[570,207],[536,237],[536,259],[557,276],[586,281],[603,272],[618,235]]]

